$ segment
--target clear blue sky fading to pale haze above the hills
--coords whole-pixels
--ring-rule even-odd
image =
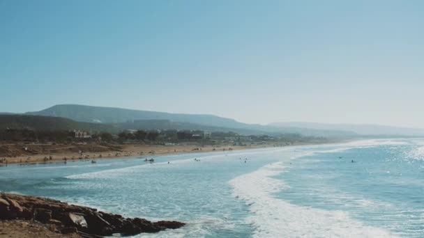
[[[0,0],[0,111],[424,127],[424,1]]]

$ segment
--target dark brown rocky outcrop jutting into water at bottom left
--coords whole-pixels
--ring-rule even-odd
[[[33,220],[48,225],[62,234],[78,233],[82,237],[103,237],[115,233],[123,236],[142,232],[159,232],[181,228],[179,221],[151,222],[124,218],[90,207],[68,205],[58,200],[0,193],[0,219]]]

